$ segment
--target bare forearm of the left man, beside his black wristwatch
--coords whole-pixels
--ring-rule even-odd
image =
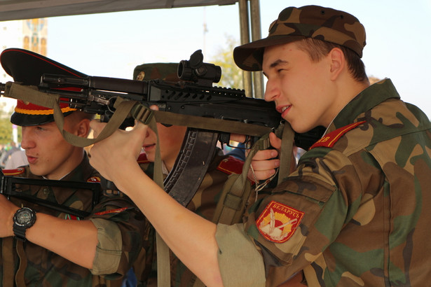
[[[91,221],[69,221],[36,214],[37,220],[26,232],[29,241],[91,269],[97,246],[97,229]]]

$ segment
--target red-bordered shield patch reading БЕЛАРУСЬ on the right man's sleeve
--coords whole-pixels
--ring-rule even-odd
[[[257,218],[256,226],[269,241],[283,243],[294,235],[303,215],[302,211],[272,201]]]

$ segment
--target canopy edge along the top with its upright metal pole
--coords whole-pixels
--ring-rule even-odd
[[[0,0],[0,21],[237,2],[241,43],[261,38],[259,0]],[[250,72],[243,74],[247,94],[261,98],[264,91],[262,74],[254,72],[254,77]]]

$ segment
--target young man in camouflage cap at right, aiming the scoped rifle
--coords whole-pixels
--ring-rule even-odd
[[[135,159],[144,125],[96,144],[91,163],[207,286],[278,286],[300,270],[308,286],[427,286],[431,123],[389,79],[369,85],[364,45],[352,15],[304,6],[282,10],[267,38],[235,48],[238,66],[264,71],[266,100],[296,132],[327,127],[244,225],[193,216],[142,174]],[[273,134],[271,141],[280,147]],[[258,161],[266,153],[277,152],[256,155],[258,179],[278,165]],[[115,168],[120,161],[127,170]]]

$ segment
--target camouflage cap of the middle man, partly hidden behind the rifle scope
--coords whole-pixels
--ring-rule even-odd
[[[133,70],[134,80],[166,80],[178,82],[178,63],[149,63],[136,66]]]

